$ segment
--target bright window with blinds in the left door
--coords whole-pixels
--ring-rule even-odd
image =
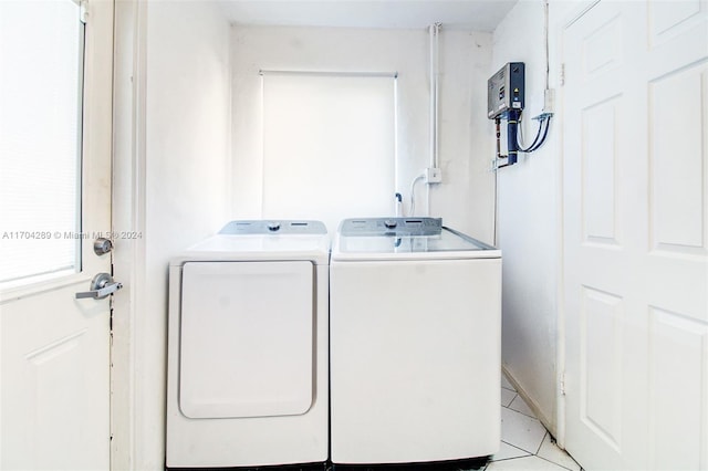
[[[83,34],[74,1],[0,1],[0,283],[80,270]]]

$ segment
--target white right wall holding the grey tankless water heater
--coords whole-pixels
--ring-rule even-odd
[[[507,62],[525,63],[527,145],[538,126],[530,118],[543,108],[543,10],[542,0],[520,1],[493,34],[490,74]],[[555,67],[551,65],[554,86]],[[489,135],[492,136],[491,130]],[[555,148],[559,135],[556,116],[551,122],[546,144],[533,154],[520,155],[517,165],[501,169],[498,175],[498,240],[503,253],[502,365],[553,433],[560,280],[560,168]]]

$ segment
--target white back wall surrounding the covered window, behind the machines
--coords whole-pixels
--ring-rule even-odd
[[[261,217],[260,70],[398,72],[397,191],[408,200],[410,181],[429,166],[427,30],[235,25],[231,45],[233,219]],[[488,169],[492,142],[483,129],[491,35],[442,28],[440,48],[444,184],[431,188],[430,214],[490,242],[493,179]],[[425,209],[425,185],[416,188],[416,206]]]

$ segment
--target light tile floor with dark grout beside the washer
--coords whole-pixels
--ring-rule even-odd
[[[485,471],[582,471],[535,418],[513,386],[501,377],[501,448]]]

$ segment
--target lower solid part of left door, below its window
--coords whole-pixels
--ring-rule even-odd
[[[85,284],[1,306],[2,469],[108,468],[107,301],[66,302]]]

